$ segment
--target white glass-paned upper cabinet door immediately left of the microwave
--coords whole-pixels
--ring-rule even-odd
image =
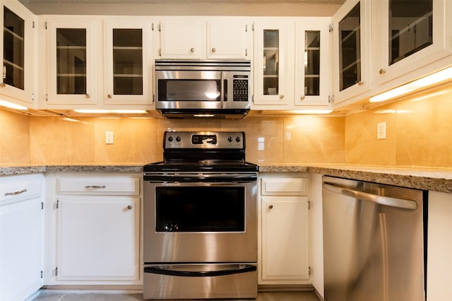
[[[150,104],[150,28],[148,22],[105,23],[105,99],[107,104]]]

